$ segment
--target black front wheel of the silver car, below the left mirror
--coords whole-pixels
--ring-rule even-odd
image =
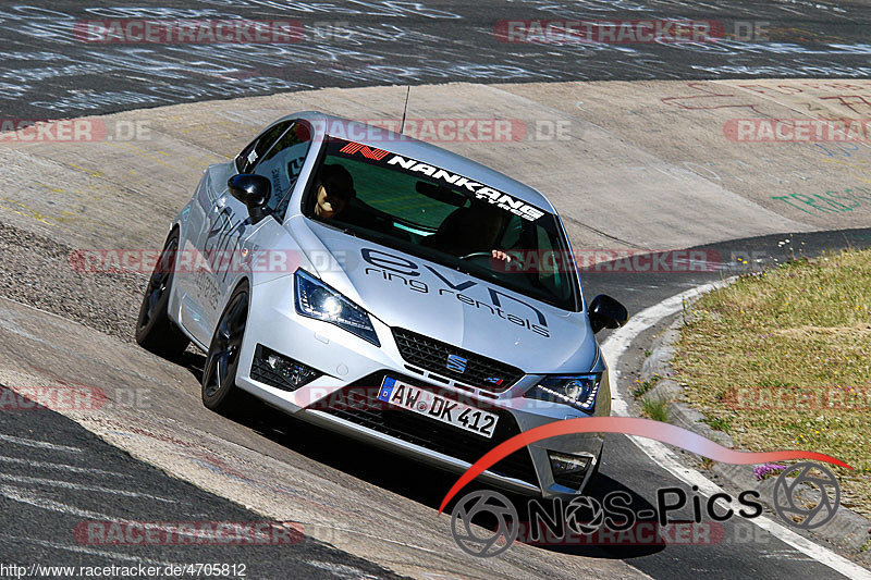
[[[241,284],[226,301],[203,368],[203,404],[221,415],[238,410],[242,390],[236,386],[236,371],[248,321],[248,285]]]

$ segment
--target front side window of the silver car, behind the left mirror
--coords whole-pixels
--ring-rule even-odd
[[[272,196],[267,208],[279,221],[284,219],[291,192],[296,185],[310,146],[308,125],[303,122],[294,123],[260,156],[252,171],[272,183]]]

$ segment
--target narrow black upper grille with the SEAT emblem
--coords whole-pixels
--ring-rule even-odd
[[[519,381],[524,375],[524,371],[517,367],[476,355],[412,331],[393,329],[393,337],[406,362],[478,388],[499,393]],[[451,355],[466,359],[464,372],[447,367],[447,357]]]

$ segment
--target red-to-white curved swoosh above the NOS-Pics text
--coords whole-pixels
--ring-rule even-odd
[[[640,437],[652,439],[680,447],[688,452],[708,457],[715,461],[723,464],[734,465],[753,465],[753,464],[768,464],[774,461],[784,461],[789,459],[813,459],[817,461],[825,461],[847,469],[852,469],[850,466],[832,457],[815,452],[802,451],[788,451],[788,452],[769,452],[769,453],[750,453],[750,452],[736,452],[728,449],[706,439],[697,433],[687,431],[679,427],[660,421],[652,421],[650,419],[637,419],[634,417],[589,417],[581,419],[568,419],[565,421],[557,421],[548,423],[535,429],[530,429],[525,433],[515,435],[510,440],[493,447],[490,452],[484,454],[483,457],[475,461],[465,473],[454,483],[451,491],[442,499],[442,505],[439,506],[439,514],[444,510],[447,503],[466,486],[471,480],[484,472],[500,460],[504,459],[517,449],[543,441],[545,439],[555,437],[557,435],[572,435],[576,433],[622,433],[624,435],[638,435]]]

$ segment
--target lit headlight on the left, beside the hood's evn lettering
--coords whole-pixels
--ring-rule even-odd
[[[305,270],[294,274],[296,312],[335,324],[364,341],[381,346],[369,314]]]

